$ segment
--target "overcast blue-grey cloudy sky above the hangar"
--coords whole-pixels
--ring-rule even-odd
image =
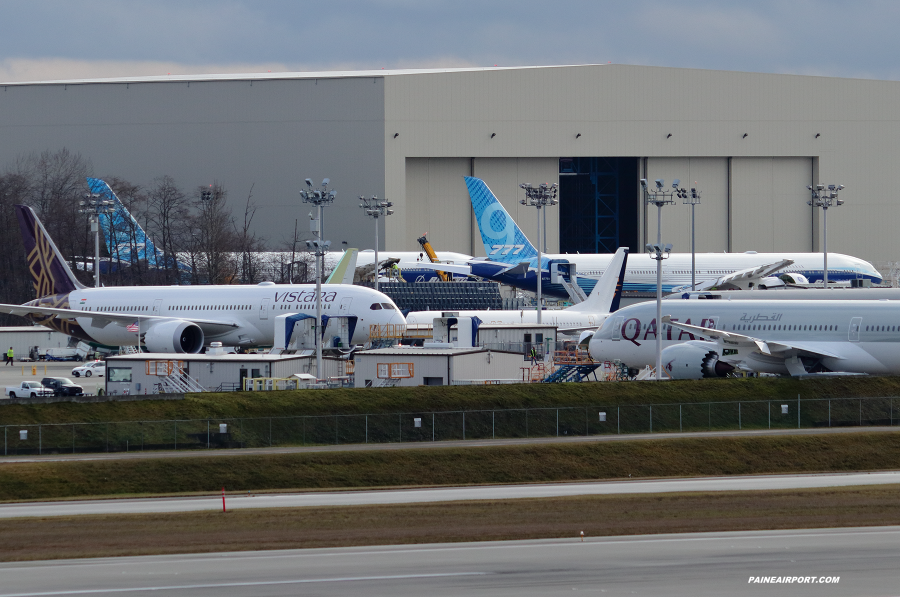
[[[0,0],[0,81],[613,62],[900,78],[900,2]]]

